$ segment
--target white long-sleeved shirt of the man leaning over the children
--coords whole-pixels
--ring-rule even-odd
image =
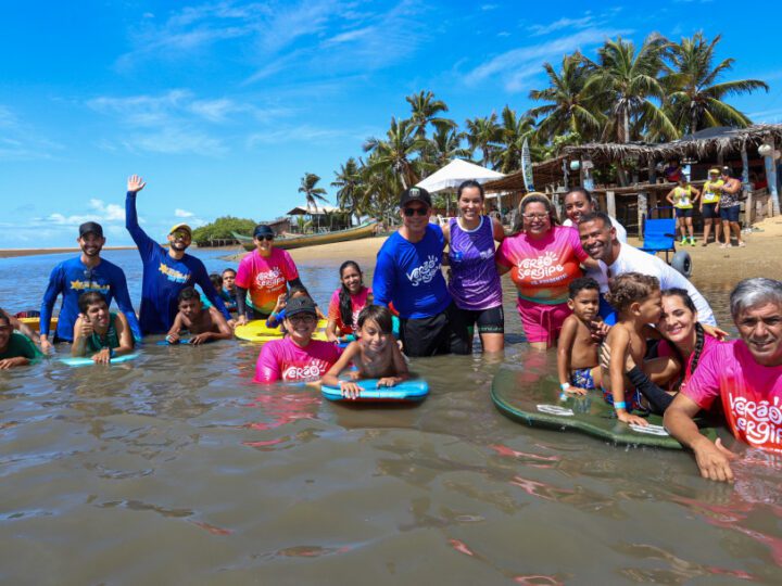
[[[659,256],[645,253],[630,244],[622,243],[619,247],[619,256],[617,256],[614,264],[608,267],[603,260],[600,260],[600,275],[596,275],[595,271],[590,271],[590,277],[594,277],[600,283],[601,293],[608,291],[608,270],[610,270],[611,277],[617,277],[625,272],[649,275],[659,279],[663,291],[673,288],[684,289],[695,304],[698,313],[698,321],[708,323],[709,326],[717,326],[717,320],[715,320],[714,313],[706,298],[695,289],[695,285],[693,285],[686,277],[666,264]]]

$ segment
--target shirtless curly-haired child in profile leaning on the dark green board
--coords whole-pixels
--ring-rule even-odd
[[[644,327],[657,323],[663,311],[659,281],[648,275],[625,272],[611,279],[608,286],[607,300],[616,308],[618,320],[605,341],[611,359],[608,369],[603,369],[603,396],[614,405],[620,421],[647,425],[645,419],[630,413],[641,407],[640,395],[626,391],[631,384],[625,374],[625,361],[630,355],[636,365],[643,365],[646,355]]]

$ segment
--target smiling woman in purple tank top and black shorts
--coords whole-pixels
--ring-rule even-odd
[[[456,304],[451,316],[455,354],[472,352],[476,324],[484,352],[501,352],[505,346],[505,316],[502,283],[494,263],[494,241],[502,242],[505,231],[500,222],[483,213],[483,186],[465,181],[458,188],[459,217],[451,218],[443,230],[449,243],[451,280],[449,291]]]

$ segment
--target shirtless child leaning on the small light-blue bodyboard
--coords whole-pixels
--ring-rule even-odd
[[[391,311],[380,305],[367,305],[358,314],[358,340],[351,342],[337,364],[324,375],[323,383],[339,386],[342,396],[357,398],[362,387],[356,380],[380,379],[378,386],[394,386],[409,378],[407,364],[392,333]],[[353,381],[340,381],[339,375],[350,364]]]

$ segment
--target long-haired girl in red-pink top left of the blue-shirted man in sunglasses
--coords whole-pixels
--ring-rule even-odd
[[[326,337],[329,342],[350,342],[355,340],[358,328],[356,319],[369,304],[371,289],[364,285],[364,273],[354,260],[345,260],[340,266],[342,285],[333,292],[329,303]]]

